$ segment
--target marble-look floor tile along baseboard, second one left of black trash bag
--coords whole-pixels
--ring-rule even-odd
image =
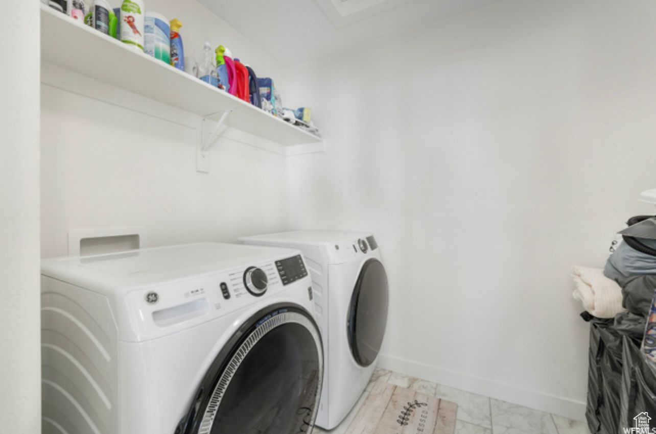
[[[494,434],[558,434],[551,414],[517,404],[491,399]]]

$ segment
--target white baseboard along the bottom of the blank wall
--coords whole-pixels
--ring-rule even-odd
[[[487,380],[463,372],[440,368],[439,366],[424,365],[423,363],[390,355],[381,354],[378,366],[437,384],[501,399],[508,403],[520,404],[574,420],[585,420],[585,403],[582,401],[522,389],[515,385]]]

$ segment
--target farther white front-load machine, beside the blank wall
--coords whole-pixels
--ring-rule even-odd
[[[385,334],[388,283],[380,248],[371,233],[295,231],[239,240],[295,248],[304,255],[325,353],[316,424],[333,429],[367,386]]]

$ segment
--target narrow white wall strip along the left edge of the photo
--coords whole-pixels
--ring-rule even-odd
[[[3,8],[0,68],[0,432],[41,431],[39,3]],[[15,43],[20,41],[20,43]]]

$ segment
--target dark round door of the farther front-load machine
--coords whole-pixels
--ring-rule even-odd
[[[348,309],[348,343],[360,366],[376,360],[387,326],[389,290],[382,263],[371,258],[360,269]]]

